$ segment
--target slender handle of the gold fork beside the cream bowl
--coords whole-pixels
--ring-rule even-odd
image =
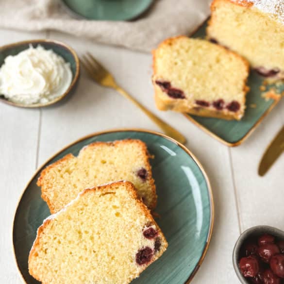
[[[116,86],[115,89],[117,92],[119,92],[123,97],[125,97],[128,100],[131,100],[137,107],[139,107],[154,123],[156,123],[165,134],[168,136],[174,138],[178,142],[184,144],[186,139],[183,134],[179,133],[176,129],[171,127],[169,124],[167,124],[165,121],[154,115],[150,110],[148,110],[144,105],[142,105],[140,102],[135,100],[131,95],[129,95],[125,90],[123,90],[121,87]]]

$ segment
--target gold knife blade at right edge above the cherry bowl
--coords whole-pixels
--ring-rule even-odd
[[[264,176],[267,170],[273,165],[277,158],[284,151],[284,126],[276,137],[267,146],[258,167],[258,174]]]

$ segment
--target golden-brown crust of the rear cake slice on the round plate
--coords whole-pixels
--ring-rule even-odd
[[[98,141],[98,142],[94,142],[94,143],[91,143],[91,144],[85,146],[84,148],[81,149],[81,151],[84,151],[84,149],[86,149],[86,148],[95,148],[95,147],[100,146],[100,145],[113,145],[114,147],[118,147],[120,144],[127,144],[127,143],[137,143],[143,149],[144,163],[147,167],[146,170],[148,171],[149,183],[150,183],[150,186],[151,186],[151,192],[152,192],[152,196],[153,196],[152,202],[151,202],[149,208],[154,209],[154,208],[156,208],[156,205],[157,205],[156,186],[155,186],[155,181],[152,178],[152,169],[150,167],[150,162],[149,162],[149,159],[151,158],[151,156],[150,156],[148,149],[147,149],[147,146],[144,142],[142,142],[141,140],[138,140],[138,139],[124,139],[124,140],[116,140],[116,141],[113,141],[113,142]],[[71,153],[67,154],[62,159],[59,159],[58,161],[56,161],[53,164],[46,167],[41,172],[41,174],[40,174],[40,176],[37,180],[36,184],[41,187],[41,198],[47,202],[47,204],[50,208],[51,214],[55,213],[55,208],[54,208],[54,206],[52,205],[52,202],[49,199],[49,196],[47,194],[47,188],[45,188],[45,186],[44,186],[44,182],[43,182],[44,178],[45,178],[46,174],[50,171],[50,169],[52,169],[53,167],[57,167],[60,164],[67,163],[68,160],[71,160],[71,159],[74,159],[74,158],[75,158],[75,156],[73,154],[71,154]]]

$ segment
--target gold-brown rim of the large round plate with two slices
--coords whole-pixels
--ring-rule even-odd
[[[99,131],[99,132],[95,132],[95,133],[92,133],[92,134],[88,134],[88,135],[85,135],[71,143],[69,143],[68,145],[66,145],[65,147],[63,147],[61,150],[57,151],[55,154],[53,154],[49,159],[47,159],[40,167],[38,167],[36,169],[36,171],[34,172],[32,178],[29,180],[29,182],[26,184],[26,186],[24,187],[23,191],[21,192],[20,194],[20,197],[17,201],[17,206],[16,206],[16,210],[14,212],[14,215],[13,215],[13,226],[12,226],[12,246],[13,246],[13,256],[14,256],[14,261],[16,263],[16,266],[17,266],[17,270],[18,270],[18,273],[23,281],[23,283],[25,284],[28,284],[22,273],[21,273],[21,270],[19,268],[19,265],[18,265],[18,262],[17,262],[17,257],[16,257],[16,252],[15,252],[15,243],[14,243],[14,228],[15,228],[15,218],[16,218],[16,215],[17,215],[17,211],[18,211],[18,206],[19,206],[19,203],[20,201],[22,200],[22,197],[25,193],[25,191],[27,190],[28,186],[31,184],[31,182],[33,181],[33,179],[35,178],[35,176],[44,168],[47,166],[48,163],[50,163],[50,161],[55,158],[57,155],[59,155],[60,153],[62,153],[64,150],[67,150],[69,147],[85,140],[85,139],[88,139],[88,138],[91,138],[91,137],[94,137],[94,136],[98,136],[98,135],[102,135],[102,134],[109,134],[109,133],[116,133],[116,132],[140,132],[140,133],[148,133],[148,134],[155,134],[157,136],[160,136],[162,138],[165,138],[173,143],[175,143],[176,145],[178,145],[180,148],[182,148],[182,150],[184,150],[192,159],[193,161],[197,164],[197,166],[199,167],[205,181],[206,181],[206,185],[207,185],[207,192],[208,192],[208,195],[209,195],[209,205],[210,205],[210,222],[209,222],[209,229],[208,229],[208,233],[207,233],[207,237],[206,237],[206,244],[204,245],[204,248],[203,248],[203,251],[202,251],[202,254],[200,256],[200,259],[198,261],[198,263],[196,264],[195,268],[193,269],[193,271],[191,272],[191,274],[189,275],[188,279],[185,281],[184,284],[189,284],[192,279],[194,278],[196,272],[199,270],[204,258],[205,258],[205,255],[208,251],[208,248],[209,248],[209,244],[210,244],[210,241],[211,241],[211,237],[212,237],[212,233],[213,233],[213,226],[214,226],[214,218],[215,218],[215,205],[214,205],[214,199],[213,199],[213,192],[212,192],[212,187],[211,187],[211,184],[210,184],[210,181],[209,181],[209,178],[204,170],[204,168],[202,167],[201,163],[199,162],[199,160],[195,157],[195,155],[189,150],[187,149],[183,144],[181,144],[180,142],[176,141],[175,139],[167,136],[166,134],[162,134],[162,133],[159,133],[159,132],[156,132],[156,131],[150,131],[150,130],[146,130],[146,129],[141,129],[141,128],[118,128],[118,129],[110,129],[110,130],[105,130],[105,131]]]

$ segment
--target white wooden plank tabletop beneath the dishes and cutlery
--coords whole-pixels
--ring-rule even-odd
[[[150,54],[56,32],[0,30],[0,45],[46,37],[66,42],[79,55],[91,51],[114,73],[117,82],[186,136],[186,146],[209,176],[215,200],[211,244],[192,284],[238,284],[232,251],[240,232],[259,224],[284,230],[284,155],[265,177],[257,175],[268,142],[284,124],[284,100],[243,145],[228,148],[182,115],[156,110]],[[12,222],[17,201],[35,169],[70,142],[113,128],[159,131],[131,102],[95,84],[84,70],[76,93],[63,105],[29,110],[0,104],[0,284],[22,283],[13,259]]]

